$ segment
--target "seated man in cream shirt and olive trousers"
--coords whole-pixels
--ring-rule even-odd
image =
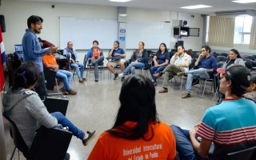
[[[170,65],[166,66],[159,74],[154,74],[154,77],[159,78],[164,74],[162,90],[159,93],[168,92],[168,81],[170,78],[174,77],[174,74],[189,70],[191,63],[191,57],[189,54],[185,53],[184,46],[178,46],[178,52],[170,59]]]

